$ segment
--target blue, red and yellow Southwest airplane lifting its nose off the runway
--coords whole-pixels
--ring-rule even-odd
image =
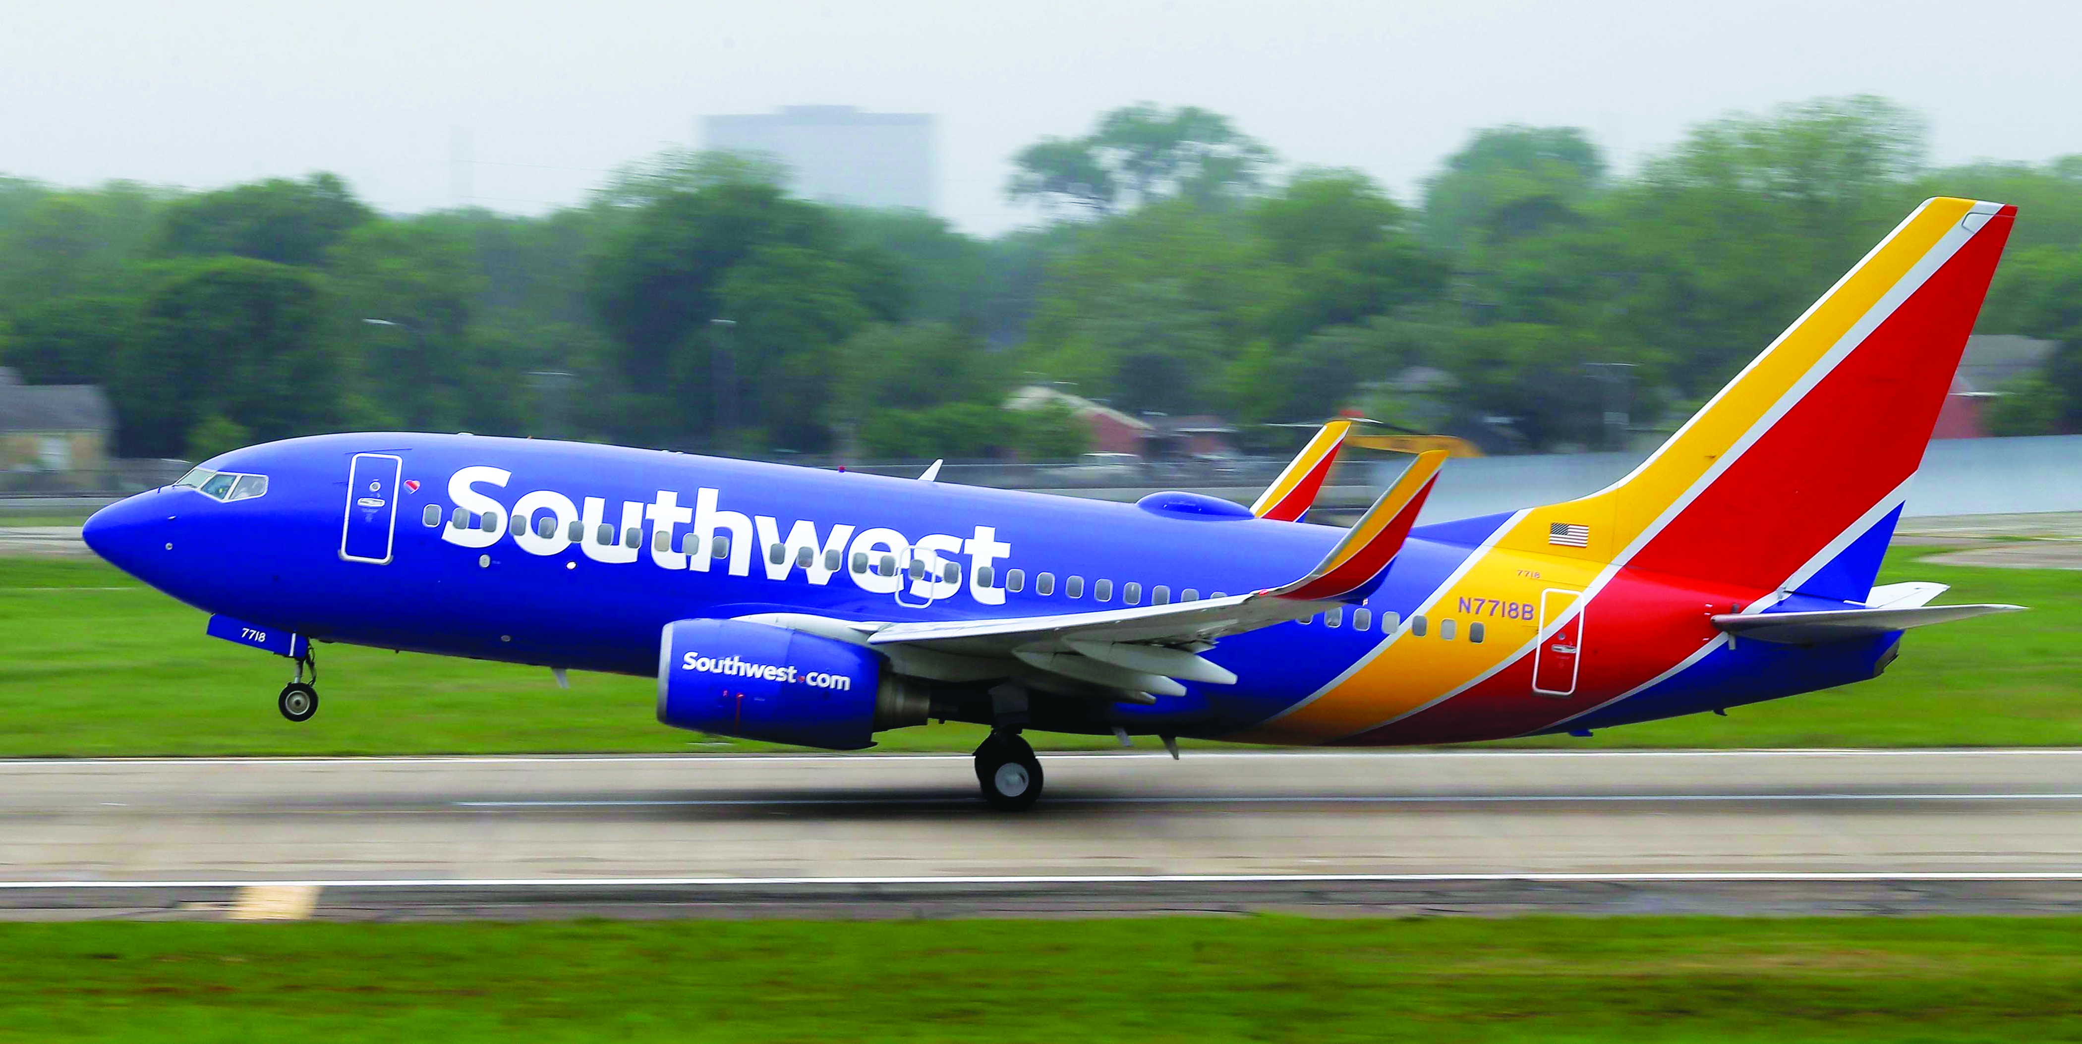
[[[1341,422],[1249,510],[354,433],[206,460],[83,537],[289,657],[294,722],[314,643],[350,643],[650,676],[662,724],[783,745],[985,724],[999,809],[1043,790],[1024,730],[1172,757],[1586,736],[1861,682],[1911,628],[2017,609],[1874,586],[2013,218],[1924,202],[1628,476],[1480,518],[1416,524],[1426,451],[1349,530],[1303,522]]]

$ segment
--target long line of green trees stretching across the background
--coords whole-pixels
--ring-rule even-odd
[[[1072,455],[1051,381],[1131,414],[1339,410],[1524,449],[1709,395],[1928,195],[2013,202],[1982,333],[2059,341],[1997,433],[2082,428],[2082,156],[1926,162],[1878,98],[1697,125],[1616,175],[1572,127],[1470,135],[1399,202],[1226,116],[1126,106],[1012,158],[983,239],[672,150],[581,206],[379,214],[331,175],[0,179],[0,360],[98,383],[125,455],[344,428],[731,453]],[[1601,364],[1626,364],[1622,370]]]

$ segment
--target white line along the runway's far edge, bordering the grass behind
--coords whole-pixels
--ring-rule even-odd
[[[371,755],[371,757],[19,757],[0,759],[0,769],[17,767],[98,767],[98,765],[573,765],[573,763],[745,763],[777,765],[797,761],[843,761],[854,765],[904,765],[914,761],[970,761],[972,755]],[[1041,751],[1047,761],[1151,759],[1168,761],[1164,751]],[[1437,757],[2082,757],[2082,747],[1797,747],[1797,749],[1678,749],[1678,751],[1187,751],[1189,759],[1437,759]]]

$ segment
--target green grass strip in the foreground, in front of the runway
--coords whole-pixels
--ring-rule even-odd
[[[2082,1040],[2078,919],[0,925],[0,1042]]]

